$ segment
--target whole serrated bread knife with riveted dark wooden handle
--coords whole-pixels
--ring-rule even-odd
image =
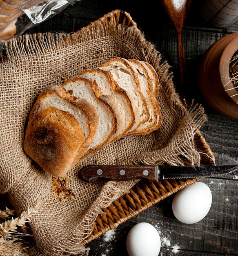
[[[98,179],[134,180],[148,179],[158,182],[162,179],[188,179],[197,177],[222,177],[237,175],[238,165],[222,166],[120,166],[89,165],[81,170],[81,176],[88,182]],[[231,176],[232,177],[232,176]],[[237,177],[238,178],[238,177]],[[233,179],[237,179],[236,176]]]

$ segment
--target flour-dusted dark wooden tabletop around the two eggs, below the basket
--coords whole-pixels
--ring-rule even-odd
[[[213,195],[211,209],[202,221],[188,225],[176,220],[170,196],[91,242],[90,255],[126,256],[126,236],[139,222],[151,223],[160,233],[160,255],[238,255],[237,181],[209,178],[200,181],[209,186]]]

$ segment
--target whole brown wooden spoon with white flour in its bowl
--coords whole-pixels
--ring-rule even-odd
[[[185,18],[189,11],[190,3],[191,0],[162,0],[162,5],[165,8],[165,12],[172,20],[177,32],[178,67],[182,88],[185,86],[185,74],[187,71],[185,52],[182,41],[182,29],[185,23]]]

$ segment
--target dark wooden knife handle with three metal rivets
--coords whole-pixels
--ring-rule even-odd
[[[89,165],[82,168],[81,176],[88,182],[102,178],[116,181],[146,178],[158,181],[158,166]]]

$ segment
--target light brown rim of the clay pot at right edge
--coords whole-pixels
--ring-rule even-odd
[[[229,74],[229,64],[231,62],[231,58],[234,56],[235,52],[238,51],[238,33],[237,37],[234,38],[224,49],[222,52],[220,63],[219,63],[219,72],[220,72],[220,80],[222,85],[224,86],[225,92],[228,96],[235,102],[238,103],[238,95],[234,95],[234,84],[231,82],[230,74]],[[227,90],[227,89],[234,89],[234,90]],[[236,91],[235,94],[238,94]]]

